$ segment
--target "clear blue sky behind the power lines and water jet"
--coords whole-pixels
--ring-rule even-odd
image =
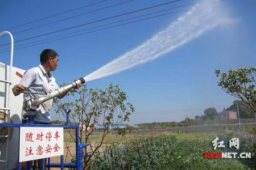
[[[60,85],[85,77],[137,48],[171,23],[177,22],[180,16],[199,1],[168,2],[172,1],[2,0],[0,31],[13,34],[13,66],[20,69],[38,66],[43,49],[56,50],[59,54],[59,66],[52,74]],[[164,3],[166,4],[161,5]],[[214,6],[214,3],[209,5]],[[227,0],[219,2],[218,6],[232,22],[217,25],[154,60],[86,82],[87,86],[104,90],[110,83],[119,84],[128,96],[127,102],[135,107],[130,124],[178,122],[185,117],[200,116],[210,107],[216,108],[218,112],[228,108],[236,98],[225,94],[217,86],[218,78],[214,71],[220,69],[227,72],[230,69],[255,66],[256,1]],[[148,9],[131,12],[143,8]],[[138,18],[169,8],[174,9]],[[126,14],[129,12],[131,13]],[[168,12],[173,13],[152,18]],[[217,12],[218,10],[213,10],[212,15],[215,17]],[[221,16],[222,14],[218,15],[220,19]],[[151,18],[146,19],[149,17]],[[118,22],[125,19],[127,20]],[[135,20],[141,21],[123,24]],[[110,24],[113,22],[118,23]],[[201,23],[202,26],[206,24],[203,20]],[[118,24],[123,25],[107,28]],[[76,35],[78,33],[70,33],[82,30],[84,31],[79,33],[84,33],[83,35],[56,40]],[[9,37],[0,37],[0,62],[8,65],[10,45],[3,44],[9,42]],[[56,117],[52,116],[53,119]]]

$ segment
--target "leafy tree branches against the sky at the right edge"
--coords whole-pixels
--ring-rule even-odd
[[[229,70],[228,74],[221,73],[220,70],[216,69],[215,74],[221,78],[218,81],[218,86],[221,86],[227,94],[237,97],[250,105],[254,111],[256,121],[256,67],[232,69]]]

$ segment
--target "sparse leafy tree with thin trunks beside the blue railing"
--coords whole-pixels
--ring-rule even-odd
[[[62,86],[65,86],[63,84]],[[55,99],[54,107],[56,113],[62,113],[65,117],[64,109],[71,109],[71,120],[77,125],[80,125],[79,142],[90,143],[90,135],[95,130],[95,126],[102,125],[100,142],[96,146],[85,150],[84,154],[94,155],[98,148],[101,147],[104,138],[117,125],[129,121],[129,116],[135,111],[130,103],[125,103],[126,94],[122,91],[118,84],[110,84],[103,91],[99,88],[88,89],[83,85],[79,90],[72,89],[64,100]],[[71,137],[75,138],[75,131],[70,131]],[[90,143],[91,144],[91,143]],[[84,168],[92,158],[84,158]]]

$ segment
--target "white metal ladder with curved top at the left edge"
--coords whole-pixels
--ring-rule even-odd
[[[4,103],[4,107],[0,108],[0,111],[3,111],[5,113],[7,113],[7,120],[8,123],[11,122],[10,120],[10,91],[11,91],[11,76],[12,76],[12,70],[13,70],[13,49],[14,49],[14,41],[13,41],[13,35],[11,35],[10,32],[8,31],[3,31],[0,32],[0,36],[2,35],[9,35],[11,38],[11,54],[10,54],[10,66],[9,66],[9,76],[5,75],[5,80],[1,80],[0,79],[0,83],[5,83],[6,87],[5,87],[5,103]],[[6,74],[7,74],[7,65],[6,65]],[[10,128],[8,128],[8,132],[7,135],[0,135],[0,138],[6,138],[6,147],[5,147],[5,159],[0,159],[0,163],[5,163],[7,165],[7,161],[8,161],[8,148],[9,148],[9,134],[10,134]]]

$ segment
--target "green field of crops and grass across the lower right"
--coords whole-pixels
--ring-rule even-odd
[[[214,150],[216,137],[225,142],[225,148]],[[111,135],[106,138],[104,152],[92,160],[91,169],[255,169],[255,141],[241,138],[237,150],[228,147],[233,137],[234,131]],[[93,140],[97,142],[97,136]],[[251,152],[252,158],[204,158],[204,152],[218,151]]]

